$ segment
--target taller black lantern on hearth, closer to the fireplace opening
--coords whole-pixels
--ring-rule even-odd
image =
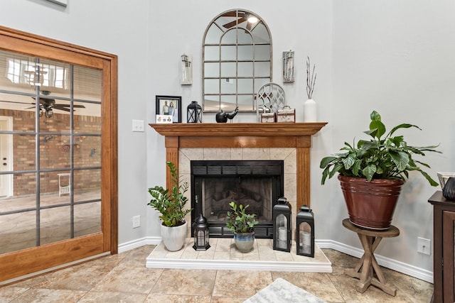
[[[291,204],[285,197],[273,206],[273,249],[291,251]]]

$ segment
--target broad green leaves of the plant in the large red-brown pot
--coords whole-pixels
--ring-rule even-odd
[[[414,147],[408,145],[403,136],[392,136],[400,128],[417,128],[418,126],[402,123],[392,128],[392,131],[382,137],[385,132],[385,125],[377,111],[370,114],[370,130],[364,131],[371,136],[370,141],[360,140],[357,145],[344,143],[341,150],[343,153],[328,156],[321,160],[320,167],[323,169],[321,184],[327,178],[333,177],[337,172],[345,177],[373,179],[402,180],[406,182],[409,172],[417,170],[432,186],[438,183],[424,172],[418,165],[428,167],[424,162],[414,160],[413,155],[424,156],[425,152],[441,153],[434,148],[439,145]]]

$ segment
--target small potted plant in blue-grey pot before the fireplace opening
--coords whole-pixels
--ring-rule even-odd
[[[230,202],[228,211],[228,221],[226,226],[234,233],[235,247],[242,253],[247,253],[253,249],[255,244],[255,225],[259,224],[255,214],[247,214],[246,209],[250,205],[243,206]]]

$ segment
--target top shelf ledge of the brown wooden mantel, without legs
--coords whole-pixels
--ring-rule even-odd
[[[149,124],[162,136],[312,136],[327,122]]]

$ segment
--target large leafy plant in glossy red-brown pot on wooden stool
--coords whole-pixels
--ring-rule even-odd
[[[370,130],[364,131],[371,137],[369,141],[360,140],[357,144],[354,141],[352,145],[345,142],[341,148],[343,153],[321,160],[321,184],[338,173],[350,221],[360,227],[387,229],[410,171],[420,172],[429,184],[437,186],[437,182],[419,167],[429,168],[429,165],[412,157],[441,152],[434,149],[439,145],[414,147],[408,145],[403,136],[394,136],[400,128],[420,129],[418,126],[402,123],[385,135],[380,114],[373,111],[370,119]]]

